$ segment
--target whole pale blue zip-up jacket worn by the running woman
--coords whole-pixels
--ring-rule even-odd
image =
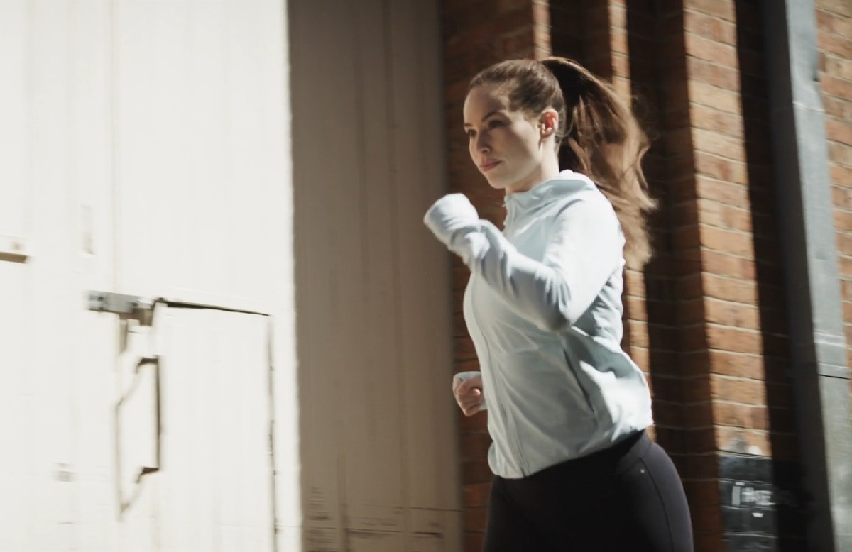
[[[612,205],[563,171],[506,196],[501,233],[462,194],[426,225],[471,276],[464,319],[482,371],[494,474],[520,478],[653,423],[648,383],[620,347],[624,244]]]

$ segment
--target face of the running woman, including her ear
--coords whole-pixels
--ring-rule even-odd
[[[548,125],[550,124],[550,128]],[[556,112],[541,120],[509,110],[502,95],[477,86],[464,101],[464,129],[469,137],[470,158],[488,183],[506,193],[524,192],[550,177],[556,166],[553,135]]]

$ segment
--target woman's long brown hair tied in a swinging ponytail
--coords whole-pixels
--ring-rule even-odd
[[[552,107],[561,170],[590,177],[613,204],[625,233],[625,260],[641,268],[651,256],[646,218],[656,202],[648,195],[642,157],[648,137],[630,104],[579,63],[561,57],[509,60],[487,67],[469,89],[488,85],[509,100],[509,109],[538,118]]]

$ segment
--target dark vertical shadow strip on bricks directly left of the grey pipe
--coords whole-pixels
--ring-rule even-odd
[[[801,467],[797,462],[793,393],[788,376],[786,297],[776,213],[769,125],[766,51],[760,3],[736,0],[736,52],[740,76],[746,175],[754,235],[757,306],[763,342],[767,428],[772,446],[768,465],[756,467],[758,484],[773,493],[776,549],[803,549],[805,533]],[[723,475],[723,474],[720,474]]]

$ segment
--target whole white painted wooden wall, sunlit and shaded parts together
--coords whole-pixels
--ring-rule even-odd
[[[437,9],[0,0],[0,551],[460,549]]]

